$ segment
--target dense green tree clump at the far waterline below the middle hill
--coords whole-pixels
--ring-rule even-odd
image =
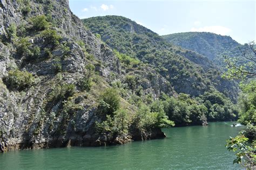
[[[216,97],[213,97],[214,93],[216,93]],[[235,119],[238,115],[237,108],[224,96],[221,97],[221,100],[216,100],[220,95],[218,93],[218,91],[206,92],[195,99],[186,94],[179,94],[177,98],[164,96],[162,102],[166,115],[176,125],[202,124],[207,120],[229,121]],[[220,101],[221,104],[216,101]]]

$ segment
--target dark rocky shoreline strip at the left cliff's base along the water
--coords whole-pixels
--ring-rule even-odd
[[[63,137],[55,139],[36,139],[30,141],[23,141],[21,143],[15,143],[15,139],[10,139],[8,142],[2,141],[1,143],[1,152],[8,152],[14,150],[31,150],[31,149],[41,149],[41,148],[56,148],[56,147],[67,147],[67,146],[110,146],[110,145],[124,145],[130,141],[138,140],[152,140],[152,139],[162,139],[166,135],[161,129],[156,128],[151,132],[146,133],[136,133],[136,134],[127,134],[124,136],[117,136],[113,138],[110,135],[104,134],[85,134],[84,136],[71,136],[68,139]]]

